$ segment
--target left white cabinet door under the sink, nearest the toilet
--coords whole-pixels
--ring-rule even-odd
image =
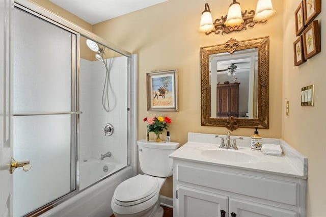
[[[178,190],[178,217],[221,217],[221,210],[228,213],[228,197],[181,187]]]

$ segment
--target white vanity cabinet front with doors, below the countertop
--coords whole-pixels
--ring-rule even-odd
[[[173,189],[175,217],[306,216],[301,178],[174,158]]]

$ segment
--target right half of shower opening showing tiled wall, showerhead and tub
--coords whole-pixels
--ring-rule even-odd
[[[128,58],[81,36],[79,77],[80,190],[128,165]]]

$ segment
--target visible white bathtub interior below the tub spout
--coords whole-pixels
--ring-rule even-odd
[[[110,175],[117,170],[123,168],[122,164],[115,164],[99,159],[87,159],[79,164],[79,189],[82,190],[85,187],[97,182],[101,178]]]

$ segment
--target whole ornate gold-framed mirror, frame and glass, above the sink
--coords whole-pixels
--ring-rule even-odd
[[[268,129],[268,75],[268,37],[201,47],[201,125]]]

